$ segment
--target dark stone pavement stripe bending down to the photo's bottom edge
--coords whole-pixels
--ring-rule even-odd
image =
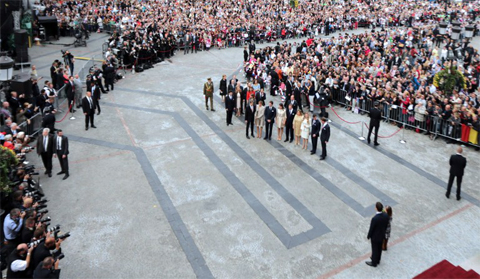
[[[185,225],[182,218],[180,217],[180,214],[173,205],[170,196],[168,195],[165,187],[158,178],[157,173],[153,169],[152,164],[148,160],[148,157],[143,151],[143,149],[130,145],[123,145],[74,135],[69,135],[68,137],[70,140],[77,142],[132,151],[135,154],[138,162],[140,163],[143,173],[145,174],[145,177],[147,178],[147,181],[153,193],[155,194],[155,197],[160,203],[160,206],[162,207],[168,223],[172,227],[173,233],[177,237],[177,240],[180,243],[180,246],[182,247],[185,256],[187,257],[188,262],[192,266],[193,272],[195,273],[197,278],[214,278],[212,272],[210,271],[205,262],[205,259],[203,258],[202,253],[200,253],[200,250],[195,244],[195,241],[188,232],[187,226]]]

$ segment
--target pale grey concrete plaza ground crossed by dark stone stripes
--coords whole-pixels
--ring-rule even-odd
[[[71,52],[98,58],[105,38]],[[62,48],[30,49],[40,75]],[[444,195],[456,145],[443,140],[405,131],[374,148],[358,140],[361,124],[331,109],[325,161],[276,141],[275,127],[272,141],[246,139],[242,118],[227,127],[218,93],[216,112],[202,93],[207,77],[216,89],[222,74],[243,81],[242,59],[242,48],[177,53],[103,94],[97,129],[85,131],[80,111],[57,124],[70,139],[70,178],[55,176],[55,159],[54,176],[40,177],[53,223],[72,235],[63,278],[411,278],[480,253],[479,152],[465,149],[456,201]],[[382,122],[380,134],[396,130]],[[393,206],[393,224],[372,268],[376,201]]]

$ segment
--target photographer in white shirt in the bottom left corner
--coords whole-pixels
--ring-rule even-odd
[[[7,278],[29,278],[28,268],[31,265],[32,251],[35,246],[28,248],[22,243],[7,257]]]

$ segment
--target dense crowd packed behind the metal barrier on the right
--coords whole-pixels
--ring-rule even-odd
[[[452,92],[435,84],[435,75],[444,69],[463,77]],[[442,135],[449,142],[478,146],[480,55],[467,39],[453,40],[438,28],[377,29],[277,43],[246,53],[244,70],[247,85],[237,88],[231,81],[229,87],[241,100],[239,112],[251,99],[265,102],[268,88],[270,95],[282,95],[283,108],[319,107],[321,116],[337,103],[363,114],[378,102],[385,121],[424,131],[431,139]]]

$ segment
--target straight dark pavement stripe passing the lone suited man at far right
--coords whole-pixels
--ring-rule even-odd
[[[336,124],[334,122],[331,122],[330,123],[333,127],[339,129],[340,131],[346,133],[347,135],[355,138],[356,140],[358,140],[358,135],[355,134],[354,132],[352,132],[351,130],[347,129],[347,128],[344,128],[342,127],[341,125],[339,124]],[[426,179],[432,181],[433,183],[437,184],[438,186],[444,188],[444,189],[447,189],[447,183],[441,179],[439,179],[438,177],[422,170],[421,168],[415,166],[414,164],[408,162],[407,160],[399,157],[398,155],[395,155],[393,154],[392,152],[384,149],[384,148],[381,148],[381,147],[378,147],[378,146],[372,146],[370,144],[367,144],[366,142],[363,142],[363,144],[369,146],[370,148],[382,153],[383,155],[387,156],[388,158],[394,160],[395,162],[397,162],[398,164],[416,172],[417,174],[419,174],[420,176],[422,177],[425,177]],[[471,202],[472,204],[476,205],[476,206],[479,206],[480,207],[480,201],[474,197],[472,197],[471,195],[465,193],[465,192],[462,192],[462,198]]]

